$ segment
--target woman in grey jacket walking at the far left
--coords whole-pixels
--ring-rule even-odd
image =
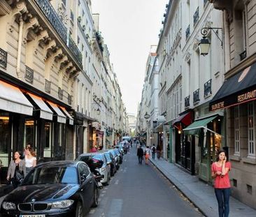
[[[13,188],[17,188],[17,185],[21,183],[26,174],[25,161],[20,157],[22,153],[20,151],[15,151],[14,160],[10,161],[7,172],[7,181],[11,181]]]

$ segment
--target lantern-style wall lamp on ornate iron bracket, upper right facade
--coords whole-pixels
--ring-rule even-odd
[[[218,33],[217,33],[218,29],[221,30],[221,35],[222,35],[221,38],[218,36]],[[200,43],[199,43],[200,53],[203,56],[206,56],[208,54],[209,49],[210,49],[210,45],[211,45],[210,40],[206,37],[206,35],[208,34],[208,31],[213,31],[215,33],[217,38],[220,40],[221,47],[223,49],[223,42],[222,42],[223,29],[222,28],[204,27],[204,28],[201,29],[201,35],[203,36],[203,38],[200,40]]]

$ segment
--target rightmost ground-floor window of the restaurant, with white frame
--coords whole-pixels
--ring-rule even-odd
[[[255,157],[254,104],[248,103],[248,156]]]

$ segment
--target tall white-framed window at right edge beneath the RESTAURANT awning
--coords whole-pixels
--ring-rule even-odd
[[[250,107],[252,106],[252,107]],[[255,152],[255,103],[250,102],[248,103],[248,157],[249,158],[255,158],[256,152]],[[249,120],[252,118],[253,120],[253,126],[250,127]]]

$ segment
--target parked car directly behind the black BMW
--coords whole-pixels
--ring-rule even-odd
[[[78,156],[78,160],[82,160],[87,163],[92,172],[97,170],[101,175],[103,175],[103,178],[101,179],[102,184],[109,184],[109,181],[111,180],[111,165],[108,165],[106,156],[104,156],[103,153],[94,152],[81,154]]]

